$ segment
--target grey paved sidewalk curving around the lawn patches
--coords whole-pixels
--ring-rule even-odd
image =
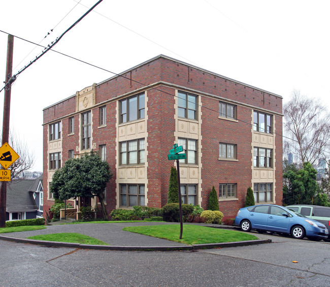
[[[58,221],[60,223],[63,220]],[[55,223],[55,222],[54,222]],[[35,231],[23,231],[4,233],[0,235],[0,239],[10,240],[16,242],[24,242],[30,244],[41,244],[46,246],[62,246],[62,247],[75,247],[87,249],[107,249],[107,250],[195,250],[201,248],[214,248],[214,247],[230,247],[230,246],[243,246],[254,245],[261,243],[270,243],[271,240],[253,240],[253,241],[239,241],[227,243],[211,243],[211,244],[196,244],[187,245],[166,239],[141,235],[137,233],[123,231],[122,229],[127,226],[148,226],[148,225],[168,225],[179,224],[176,222],[128,222],[128,223],[85,223],[85,224],[53,224],[47,226],[47,229]],[[232,226],[211,225],[211,224],[198,224],[208,227],[216,228],[229,228]],[[93,238],[100,239],[110,245],[87,245],[79,243],[65,243],[53,241],[40,241],[27,239],[29,236],[53,233],[80,233]]]

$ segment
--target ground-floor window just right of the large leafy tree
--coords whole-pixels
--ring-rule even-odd
[[[145,186],[120,184],[120,206],[133,207],[135,205],[145,205]]]

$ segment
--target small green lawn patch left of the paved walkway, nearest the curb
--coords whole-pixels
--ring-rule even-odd
[[[58,242],[71,242],[89,245],[109,245],[101,240],[89,237],[80,233],[53,233],[27,237],[28,239],[58,241]]]

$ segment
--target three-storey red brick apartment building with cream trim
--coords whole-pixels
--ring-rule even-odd
[[[184,203],[206,209],[212,186],[225,218],[244,206],[249,186],[256,203],[282,203],[279,95],[159,55],[43,112],[45,211],[54,203],[54,171],[90,150],[114,174],[106,188],[109,213],[162,207],[175,143],[187,155],[180,160]]]

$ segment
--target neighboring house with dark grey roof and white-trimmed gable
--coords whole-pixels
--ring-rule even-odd
[[[43,217],[42,176],[7,185],[6,220]]]

